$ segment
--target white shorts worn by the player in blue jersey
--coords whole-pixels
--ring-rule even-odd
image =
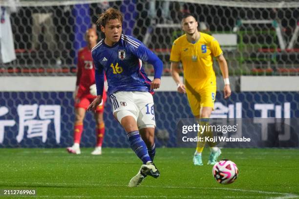
[[[118,91],[109,97],[113,115],[115,112],[128,110],[135,116],[139,129],[156,126],[153,98],[149,92]]]

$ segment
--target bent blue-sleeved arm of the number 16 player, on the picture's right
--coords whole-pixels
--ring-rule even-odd
[[[154,79],[151,81],[150,90],[160,88],[163,62],[143,43],[140,44],[136,51],[133,51],[133,54],[140,60],[146,61],[154,67]]]

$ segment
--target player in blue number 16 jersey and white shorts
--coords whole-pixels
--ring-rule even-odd
[[[122,23],[122,14],[114,8],[107,9],[97,20],[105,39],[91,51],[96,68],[97,98],[88,110],[94,111],[102,101],[105,72],[113,115],[124,127],[132,150],[143,162],[128,184],[136,187],[148,175],[154,178],[160,176],[152,162],[156,123],[151,93],[160,87],[163,63],[141,41],[122,34]],[[142,61],[153,65],[154,80],[149,80],[145,74]]]

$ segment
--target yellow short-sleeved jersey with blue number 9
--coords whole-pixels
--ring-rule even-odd
[[[199,40],[191,43],[185,34],[173,42],[170,61],[182,62],[185,81],[197,90],[216,84],[213,57],[222,53],[218,41],[211,35],[200,33]]]

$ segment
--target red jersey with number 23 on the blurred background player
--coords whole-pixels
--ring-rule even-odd
[[[91,57],[91,50],[86,46],[78,52],[76,86],[79,86],[79,89],[76,98],[95,98],[95,96],[89,93],[89,87],[92,84],[95,84],[95,68]],[[103,99],[106,99],[105,89]]]

